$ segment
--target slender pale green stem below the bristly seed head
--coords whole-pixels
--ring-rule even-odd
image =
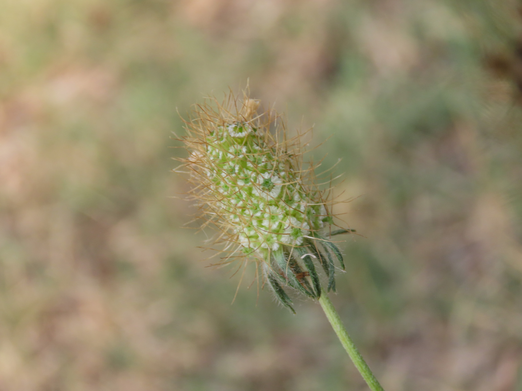
[[[331,326],[334,328],[334,331],[337,334],[339,340],[341,341],[342,346],[345,348],[346,352],[352,359],[353,363],[355,364],[355,367],[361,373],[362,377],[366,381],[366,384],[370,387],[372,391],[384,391],[383,387],[379,384],[372,371],[370,370],[370,367],[362,358],[361,353],[359,353],[359,350],[357,350],[357,348],[353,344],[352,339],[346,331],[346,327],[341,322],[339,314],[337,313],[333,304],[331,303],[330,299],[328,298],[328,296],[326,296],[325,293],[321,295],[321,297],[319,298],[319,304],[321,304],[321,307],[323,308],[326,317],[330,321]]]

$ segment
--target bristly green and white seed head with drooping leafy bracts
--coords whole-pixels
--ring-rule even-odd
[[[200,217],[218,228],[216,242],[226,242],[222,263],[256,260],[264,282],[293,311],[283,287],[318,299],[315,261],[335,290],[334,259],[344,264],[329,237],[351,230],[331,230],[333,201],[314,184],[313,164],[303,163],[303,135],[289,139],[281,117],[258,114],[258,107],[247,93],[197,105],[185,121],[189,156],[181,161]]]

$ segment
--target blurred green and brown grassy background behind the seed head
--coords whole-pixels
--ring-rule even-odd
[[[342,158],[334,304],[387,391],[522,389],[522,15],[504,0],[2,0],[0,390],[365,390],[205,234],[171,157],[202,97]],[[193,225],[194,226],[194,225]]]

